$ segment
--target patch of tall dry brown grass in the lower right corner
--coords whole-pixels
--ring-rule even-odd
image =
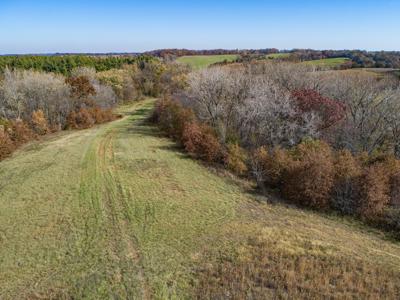
[[[254,235],[239,248],[203,253],[195,269],[196,299],[398,299],[400,272],[366,261],[284,249]]]

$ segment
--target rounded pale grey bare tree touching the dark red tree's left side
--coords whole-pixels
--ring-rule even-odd
[[[318,117],[299,115],[290,94],[265,77],[251,81],[250,95],[237,110],[237,130],[251,146],[291,146],[318,137]]]

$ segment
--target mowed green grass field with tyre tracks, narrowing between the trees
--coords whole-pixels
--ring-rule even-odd
[[[400,270],[400,245],[358,223],[248,194],[126,117],[0,163],[0,299],[184,299],[204,251],[254,232],[274,248]],[[261,200],[261,201],[258,201]]]

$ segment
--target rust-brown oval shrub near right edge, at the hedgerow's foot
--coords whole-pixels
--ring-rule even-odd
[[[382,163],[363,170],[357,179],[358,213],[365,219],[375,220],[389,203],[389,176]]]

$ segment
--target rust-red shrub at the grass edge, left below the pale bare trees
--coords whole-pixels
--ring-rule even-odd
[[[182,142],[186,151],[196,158],[212,162],[218,161],[221,157],[222,146],[212,129],[207,125],[186,123]]]

